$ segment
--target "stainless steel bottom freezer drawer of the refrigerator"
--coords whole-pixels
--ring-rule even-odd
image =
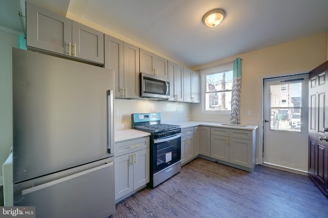
[[[15,184],[14,206],[35,206],[37,217],[108,217],[115,212],[113,160]]]

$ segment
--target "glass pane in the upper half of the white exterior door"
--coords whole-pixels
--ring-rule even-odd
[[[301,131],[302,82],[270,85],[271,130]]]

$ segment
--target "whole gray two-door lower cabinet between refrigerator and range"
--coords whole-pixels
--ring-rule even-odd
[[[115,142],[115,201],[127,198],[149,183],[149,137]]]

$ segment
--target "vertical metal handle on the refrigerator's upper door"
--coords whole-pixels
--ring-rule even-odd
[[[114,155],[114,91],[107,91],[107,150]]]

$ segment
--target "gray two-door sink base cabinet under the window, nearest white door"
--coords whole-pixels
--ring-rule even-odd
[[[211,127],[211,158],[236,168],[253,171],[255,130]]]

